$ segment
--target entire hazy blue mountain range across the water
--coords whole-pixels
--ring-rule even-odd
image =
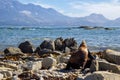
[[[65,16],[52,8],[22,4],[17,0],[0,0],[0,25],[120,25],[120,18],[109,20],[101,14],[86,17]]]

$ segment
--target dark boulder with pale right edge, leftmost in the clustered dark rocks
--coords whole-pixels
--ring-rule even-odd
[[[50,49],[50,50],[54,51],[54,50],[55,50],[54,41],[52,41],[52,40],[44,40],[44,41],[40,44],[40,48],[41,48],[41,49]]]

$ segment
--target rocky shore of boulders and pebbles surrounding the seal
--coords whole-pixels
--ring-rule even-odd
[[[0,52],[0,80],[120,80],[120,52],[91,52],[96,59],[84,72],[64,70],[72,52],[78,49],[74,38],[44,40],[37,48],[29,41]]]

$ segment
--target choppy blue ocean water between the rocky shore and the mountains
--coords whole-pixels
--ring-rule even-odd
[[[18,47],[24,41],[37,47],[45,39],[58,37],[75,38],[78,44],[86,40],[90,50],[110,48],[120,51],[120,28],[85,30],[77,26],[0,26],[0,51],[10,46]]]

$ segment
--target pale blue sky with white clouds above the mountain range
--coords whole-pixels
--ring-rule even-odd
[[[44,8],[53,8],[71,17],[84,17],[92,13],[103,14],[108,19],[120,17],[120,0],[18,0]]]

